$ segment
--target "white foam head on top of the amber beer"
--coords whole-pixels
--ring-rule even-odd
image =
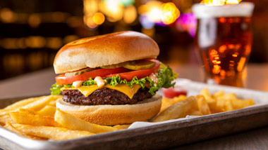
[[[194,4],[193,13],[196,18],[251,17],[253,8],[254,4],[250,2],[224,6]]]

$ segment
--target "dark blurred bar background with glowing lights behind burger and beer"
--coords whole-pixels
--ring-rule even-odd
[[[133,30],[151,36],[167,64],[197,64],[196,20],[200,0],[1,0],[0,80],[53,66],[64,44],[87,36]],[[250,63],[268,62],[268,0],[252,0]]]

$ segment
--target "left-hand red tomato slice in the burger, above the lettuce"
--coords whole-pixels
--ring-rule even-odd
[[[76,76],[65,76],[65,74],[61,74],[56,76],[56,83],[59,85],[63,84],[71,84],[74,81],[87,81],[90,77],[95,79],[96,76],[106,76],[109,74],[118,74],[121,72],[128,71],[128,69],[123,67],[118,67],[114,69],[96,69],[92,71],[85,72],[84,74],[76,75]]]

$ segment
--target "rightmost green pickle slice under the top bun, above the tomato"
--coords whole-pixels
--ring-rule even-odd
[[[130,61],[128,64],[124,65],[126,69],[131,70],[142,70],[142,69],[150,69],[154,67],[154,62],[148,60],[134,60]]]

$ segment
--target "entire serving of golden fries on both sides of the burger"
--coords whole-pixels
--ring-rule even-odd
[[[61,98],[61,95],[48,95],[11,104],[0,109],[0,125],[32,139],[53,140],[85,137],[129,126],[104,126],[83,121],[56,109],[56,100]],[[207,89],[203,89],[196,97],[180,95],[173,99],[163,98],[159,115],[152,122],[231,111],[252,104],[255,104],[253,100],[240,100],[234,93],[224,94],[224,91],[220,91],[210,95]]]

